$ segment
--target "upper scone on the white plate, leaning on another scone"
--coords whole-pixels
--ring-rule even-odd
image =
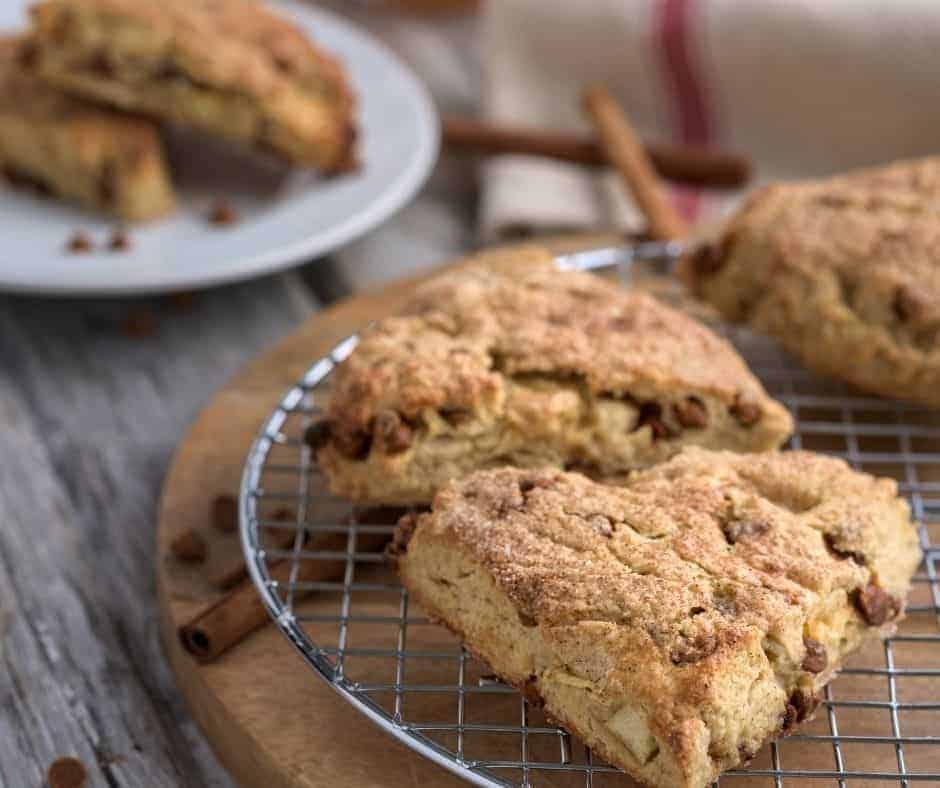
[[[355,165],[339,64],[251,0],[44,0],[43,77],[79,95],[335,173]]]

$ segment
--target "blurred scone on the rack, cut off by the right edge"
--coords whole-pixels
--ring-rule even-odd
[[[680,263],[807,366],[940,407],[940,158],[757,192]]]

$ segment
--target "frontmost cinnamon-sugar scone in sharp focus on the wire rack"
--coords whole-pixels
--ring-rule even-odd
[[[702,788],[810,717],[921,557],[894,481],[804,452],[686,449],[622,487],[480,471],[408,515],[412,598],[594,752]]]

